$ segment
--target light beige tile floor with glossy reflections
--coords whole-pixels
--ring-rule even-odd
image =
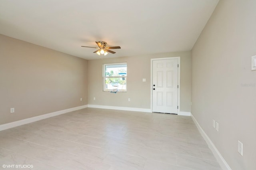
[[[221,169],[191,117],[94,108],[0,131],[0,169],[4,164],[32,170]]]

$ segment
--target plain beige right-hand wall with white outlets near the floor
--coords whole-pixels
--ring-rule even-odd
[[[232,170],[256,169],[255,9],[255,0],[220,0],[192,49],[192,114]]]

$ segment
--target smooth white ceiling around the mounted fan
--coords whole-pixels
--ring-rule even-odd
[[[0,0],[0,34],[84,59],[191,50],[219,0]]]

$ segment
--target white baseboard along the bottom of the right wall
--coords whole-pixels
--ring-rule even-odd
[[[191,114],[191,117],[194,121],[194,123],[196,124],[196,127],[198,128],[199,132],[202,134],[204,140],[206,141],[206,143],[208,144],[210,150],[212,150],[212,153],[214,154],[216,160],[218,161],[218,163],[220,164],[220,167],[223,170],[231,170],[230,166],[228,165],[228,163],[226,162],[226,160],[222,157],[222,155],[220,154],[220,152],[218,151],[218,149],[214,146],[212,140],[210,140],[210,138],[207,136],[207,134],[204,132],[204,130],[202,129],[202,127],[198,124],[198,122],[196,121],[195,117]]]

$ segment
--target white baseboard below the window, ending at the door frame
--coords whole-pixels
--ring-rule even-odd
[[[98,109],[113,109],[113,110],[122,110],[122,111],[136,111],[136,112],[149,112],[152,113],[151,109],[143,109],[136,107],[118,107],[118,106],[104,106],[104,105],[88,105],[91,108]]]

